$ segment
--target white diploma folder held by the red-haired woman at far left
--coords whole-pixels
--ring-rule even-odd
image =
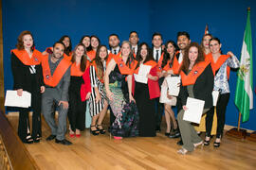
[[[5,106],[28,108],[31,106],[31,93],[23,91],[22,96],[19,96],[17,91],[7,91]]]

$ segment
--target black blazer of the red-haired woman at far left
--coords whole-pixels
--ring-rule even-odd
[[[13,90],[23,89],[31,93],[31,90],[35,89],[37,93],[40,93],[40,87],[44,86],[42,66],[41,64],[35,66],[35,75],[30,74],[29,67],[11,53]]]

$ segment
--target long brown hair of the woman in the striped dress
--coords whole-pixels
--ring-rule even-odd
[[[95,63],[96,63],[96,66],[97,66],[97,76],[102,78],[104,76],[104,66],[103,66],[103,63],[101,62],[101,57],[100,57],[100,50],[101,50],[101,47],[105,47],[106,48],[106,57],[104,60],[107,60],[108,58],[108,53],[107,53],[107,47],[106,45],[99,45],[98,48],[97,48],[97,51],[96,51],[96,56],[95,56]]]

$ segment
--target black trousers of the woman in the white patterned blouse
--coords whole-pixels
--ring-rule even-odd
[[[229,103],[229,94],[230,93],[222,93],[219,96],[217,106],[216,106],[216,113],[217,113],[217,134],[216,137],[220,138],[223,134],[223,129],[225,126],[225,116],[226,116],[226,110]],[[213,115],[214,115],[214,107],[212,107],[208,112],[206,116],[206,132],[207,136],[210,136],[210,131],[212,127],[212,121],[213,121]]]

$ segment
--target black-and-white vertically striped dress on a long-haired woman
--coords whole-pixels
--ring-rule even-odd
[[[106,68],[106,64],[104,61],[104,71]],[[92,93],[89,98],[89,109],[91,116],[95,116],[101,112],[101,110],[104,108],[104,99],[106,98],[106,94],[103,91],[104,84],[101,83],[100,79],[96,75],[96,71],[93,65],[90,66],[90,78],[91,78],[91,87],[92,87]],[[101,95],[101,101],[96,103],[96,92],[95,87],[98,87],[99,93]]]

